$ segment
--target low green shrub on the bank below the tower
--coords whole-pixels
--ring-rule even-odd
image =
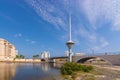
[[[90,72],[93,70],[92,66],[80,65],[73,62],[67,62],[61,67],[61,73],[66,75],[71,75],[75,71]]]

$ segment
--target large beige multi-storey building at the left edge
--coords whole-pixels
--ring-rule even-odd
[[[0,38],[0,59],[13,59],[17,54],[18,51],[13,44]]]

